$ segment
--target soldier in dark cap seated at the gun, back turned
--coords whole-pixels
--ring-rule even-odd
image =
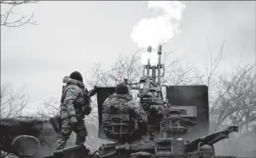
[[[137,129],[139,134],[145,132],[148,116],[144,109],[139,106],[139,103],[133,101],[133,97],[129,95],[128,86],[125,83],[122,82],[117,85],[116,93],[106,98],[102,108],[102,114],[128,114],[133,125],[135,124],[136,126],[138,124],[139,126],[140,131],[137,128],[135,130]],[[105,121],[102,121],[103,124]]]

